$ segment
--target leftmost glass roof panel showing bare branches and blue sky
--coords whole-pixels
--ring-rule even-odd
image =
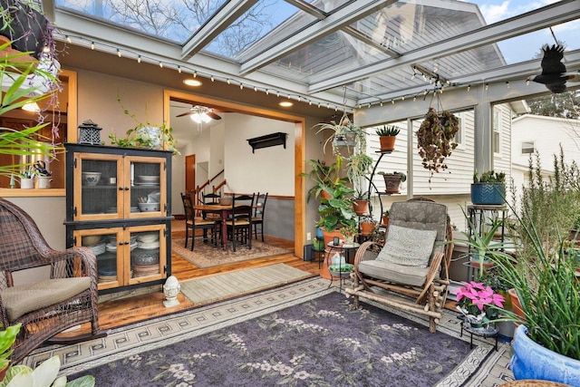
[[[55,5],[105,23],[118,24],[184,44],[226,2],[160,0],[153,6],[140,0],[56,0]]]

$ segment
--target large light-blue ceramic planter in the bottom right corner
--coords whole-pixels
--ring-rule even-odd
[[[527,327],[519,325],[509,368],[517,380],[537,379],[580,386],[580,361],[563,356],[532,341]]]

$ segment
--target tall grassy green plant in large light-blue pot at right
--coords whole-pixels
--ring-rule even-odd
[[[530,160],[531,179],[510,204],[513,251],[491,254],[523,314],[503,311],[520,324],[510,366],[516,378],[580,385],[580,281],[562,232],[580,211],[580,175],[562,153],[555,166],[554,178],[540,182],[539,162]]]

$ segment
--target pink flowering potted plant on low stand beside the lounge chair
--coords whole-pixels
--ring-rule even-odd
[[[473,315],[480,324],[488,324],[498,317],[498,310],[506,301],[503,295],[498,295],[490,286],[480,282],[461,282],[457,290],[457,308],[459,312]]]

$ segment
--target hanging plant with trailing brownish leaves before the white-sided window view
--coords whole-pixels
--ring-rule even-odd
[[[429,108],[417,131],[417,148],[423,168],[430,171],[429,182],[433,173],[447,169],[445,159],[457,148],[453,139],[458,131],[459,120],[453,113],[442,111],[438,114],[434,108]]]

